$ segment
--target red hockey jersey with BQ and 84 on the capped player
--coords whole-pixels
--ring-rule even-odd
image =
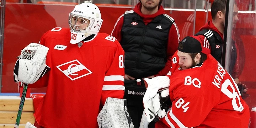
[[[228,72],[207,55],[201,65],[178,70],[172,65],[170,98],[172,106],[156,128],[247,128],[249,107]],[[174,58],[173,57],[173,58]]]

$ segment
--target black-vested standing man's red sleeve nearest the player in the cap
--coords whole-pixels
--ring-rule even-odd
[[[173,22],[170,31],[169,31],[169,37],[168,37],[168,44],[166,49],[166,55],[167,55],[167,62],[165,63],[165,67],[158,72],[158,74],[154,76],[164,76],[170,71],[171,69],[171,59],[172,55],[176,52],[178,49],[178,44],[180,43],[180,33],[178,30],[178,27],[175,22]]]

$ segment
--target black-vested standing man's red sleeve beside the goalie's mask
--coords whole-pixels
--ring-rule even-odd
[[[121,30],[123,26],[123,15],[121,15],[118,19],[116,24],[114,25],[114,29],[111,32],[111,36],[115,37],[117,41],[121,41],[122,35],[121,35]]]

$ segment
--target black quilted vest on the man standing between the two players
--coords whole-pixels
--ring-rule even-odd
[[[124,49],[124,69],[136,79],[157,74],[167,61],[166,48],[174,20],[159,15],[145,25],[134,11],[124,13],[121,46]],[[176,34],[176,33],[175,33]]]

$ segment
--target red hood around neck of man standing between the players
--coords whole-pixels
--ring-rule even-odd
[[[153,20],[156,16],[162,15],[162,14],[166,14],[165,10],[162,6],[160,6],[160,8],[158,9],[158,12],[156,12],[155,14],[152,15],[144,15],[141,12],[141,8],[142,8],[142,4],[139,2],[133,9],[133,11],[135,13],[137,13],[140,17],[142,18],[146,18],[147,20],[151,19]]]

